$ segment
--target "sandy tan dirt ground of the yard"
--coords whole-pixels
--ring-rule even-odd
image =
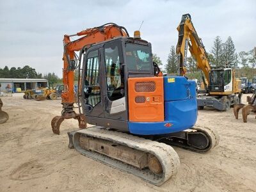
[[[76,120],[65,120],[60,136],[51,131],[61,100],[2,100],[10,120],[0,125],[0,191],[256,191],[255,115],[244,124],[232,108],[199,111],[197,124],[216,129],[220,144],[207,154],[174,147],[179,172],[157,187],[69,149]]]

